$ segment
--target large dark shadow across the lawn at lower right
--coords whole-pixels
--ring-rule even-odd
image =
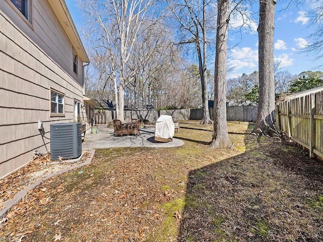
[[[177,241],[321,241],[323,163],[286,139],[245,144],[190,171]]]

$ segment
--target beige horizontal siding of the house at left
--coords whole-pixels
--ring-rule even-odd
[[[38,120],[49,138],[49,125],[71,122],[74,100],[83,104],[82,61],[74,74],[73,44],[58,18],[47,1],[32,3],[30,25],[0,0],[0,177],[29,162],[35,150],[46,152]],[[65,95],[63,117],[50,116],[51,89]]]

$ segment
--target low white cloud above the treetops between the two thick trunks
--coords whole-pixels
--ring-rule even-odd
[[[235,70],[242,68],[255,69],[258,63],[258,50],[250,47],[233,48],[231,49],[233,59],[230,64],[235,67]]]

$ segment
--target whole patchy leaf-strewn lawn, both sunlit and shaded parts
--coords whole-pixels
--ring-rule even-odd
[[[285,139],[228,122],[235,150],[211,150],[211,126],[181,122],[177,148],[96,150],[0,220],[22,241],[322,241],[323,164]]]

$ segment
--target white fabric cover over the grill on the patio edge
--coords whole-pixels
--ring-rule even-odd
[[[173,139],[175,128],[173,118],[170,115],[160,115],[155,126],[155,140],[168,142]]]

